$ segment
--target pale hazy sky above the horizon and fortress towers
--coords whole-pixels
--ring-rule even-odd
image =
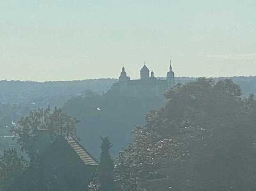
[[[255,76],[256,0],[0,0],[0,79]]]

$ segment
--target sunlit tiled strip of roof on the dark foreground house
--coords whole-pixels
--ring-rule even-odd
[[[85,165],[98,165],[95,160],[74,138],[65,137],[67,143],[74,149],[74,152],[79,156]]]

